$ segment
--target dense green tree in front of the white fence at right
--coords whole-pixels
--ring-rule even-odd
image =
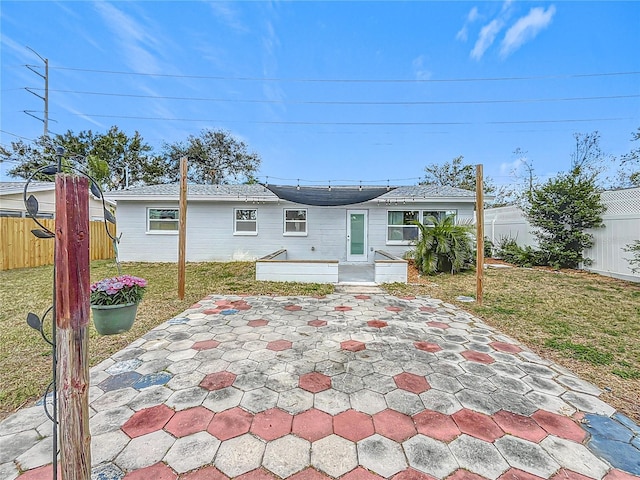
[[[593,235],[586,230],[603,226],[605,206],[596,183],[599,171],[593,163],[602,158],[597,133],[595,141],[591,135],[579,138],[571,170],[534,188],[525,206],[539,248],[555,268],[589,264],[584,250],[593,245]]]

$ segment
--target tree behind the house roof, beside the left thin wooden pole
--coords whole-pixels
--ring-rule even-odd
[[[193,183],[226,184],[251,180],[260,167],[260,156],[229,132],[205,129],[186,142],[164,145],[169,178],[179,178],[180,158],[189,159],[187,178]]]

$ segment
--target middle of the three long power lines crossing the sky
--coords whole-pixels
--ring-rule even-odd
[[[26,88],[25,88],[26,89]],[[29,90],[38,90],[30,88]],[[96,95],[106,97],[146,98],[154,100],[187,100],[198,102],[226,102],[226,103],[267,103],[267,104],[294,104],[294,105],[472,105],[472,104],[500,104],[500,103],[543,103],[543,102],[572,102],[587,100],[617,100],[628,98],[640,98],[640,95],[603,95],[595,97],[560,97],[560,98],[523,98],[507,100],[415,100],[415,101],[351,101],[351,100],[256,100],[256,99],[229,99],[210,97],[179,97],[172,95],[142,95],[134,93],[90,92],[79,90],[51,89],[51,92],[73,93],[78,95]]]

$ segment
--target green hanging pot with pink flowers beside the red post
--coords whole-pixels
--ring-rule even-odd
[[[131,275],[105,278],[91,285],[93,323],[101,335],[128,331],[136,318],[147,281]]]

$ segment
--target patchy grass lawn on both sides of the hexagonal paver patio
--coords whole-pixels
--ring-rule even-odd
[[[187,264],[187,288],[177,299],[175,264],[128,263],[125,273],[149,280],[133,329],[101,337],[90,330],[90,361],[124,348],[144,332],[206,295],[325,295],[331,285],[256,282],[247,262]],[[112,262],[91,265],[91,279],[115,275]],[[40,395],[50,379],[50,349],[26,325],[32,311],[51,303],[52,268],[0,272],[0,418]],[[411,277],[412,284],[385,285],[392,294],[429,295],[457,304],[518,339],[533,351],[593,382],[603,399],[640,421],[640,285],[594,274],[539,269],[490,269],[483,305],[460,303],[475,296],[475,273]]]

